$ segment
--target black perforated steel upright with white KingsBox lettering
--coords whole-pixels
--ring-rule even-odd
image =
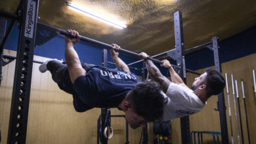
[[[7,143],[26,143],[39,0],[22,1]]]

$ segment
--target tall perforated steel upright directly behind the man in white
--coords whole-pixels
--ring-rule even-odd
[[[177,54],[177,65],[181,67],[179,69],[179,76],[186,84],[186,67],[184,58],[184,39],[183,39],[183,26],[182,26],[182,13],[177,11],[174,13],[174,28],[175,28],[175,46]],[[190,143],[190,126],[189,117],[181,118],[181,135],[182,144]]]

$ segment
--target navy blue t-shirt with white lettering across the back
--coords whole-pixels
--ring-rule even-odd
[[[86,75],[75,79],[74,107],[75,109],[85,105],[100,108],[118,107],[138,82],[140,79],[134,73],[127,73],[123,69],[91,67],[87,69]]]

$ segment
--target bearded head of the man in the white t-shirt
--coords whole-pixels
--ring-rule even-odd
[[[197,77],[193,82],[191,89],[205,90],[205,95],[209,98],[212,95],[217,95],[223,91],[225,80],[223,76],[213,69],[205,69],[205,73]]]

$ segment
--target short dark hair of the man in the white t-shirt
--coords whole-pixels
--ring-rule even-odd
[[[207,73],[204,79],[207,97],[209,98],[212,95],[221,93],[225,87],[225,80],[223,76],[213,69],[205,69],[205,73]]]

